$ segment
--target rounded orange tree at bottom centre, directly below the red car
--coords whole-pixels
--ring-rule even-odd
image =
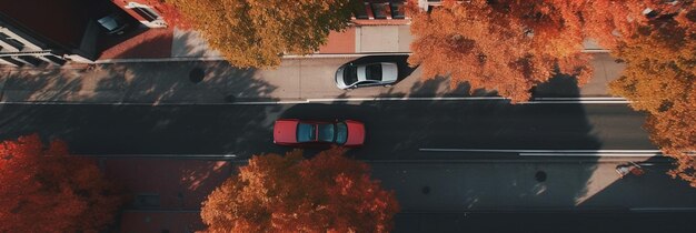
[[[210,232],[389,232],[399,210],[341,149],[255,155],[203,202]]]

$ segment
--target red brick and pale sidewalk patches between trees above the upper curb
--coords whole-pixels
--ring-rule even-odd
[[[357,24],[345,31],[331,31],[327,43],[308,57],[359,57],[375,53],[410,53],[414,36],[409,24]],[[583,43],[586,52],[606,52],[594,40]],[[286,55],[294,58],[297,55]],[[301,57],[300,57],[301,58]],[[221,61],[221,54],[208,47],[200,32],[178,28],[150,29],[103,51],[98,63],[139,60]]]

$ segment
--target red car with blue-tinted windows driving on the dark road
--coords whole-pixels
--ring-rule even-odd
[[[365,124],[352,120],[327,122],[279,119],[274,125],[274,143],[279,145],[361,146],[364,142]]]

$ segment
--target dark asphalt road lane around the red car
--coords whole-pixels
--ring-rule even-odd
[[[367,126],[358,159],[468,159],[499,153],[419,149],[655,149],[645,115],[625,104],[505,101],[381,101],[282,105],[0,105],[0,136],[38,132],[81,154],[236,154],[288,148],[272,142],[278,118],[354,119]],[[516,154],[514,154],[516,155]]]

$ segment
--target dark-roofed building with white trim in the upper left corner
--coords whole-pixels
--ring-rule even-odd
[[[112,0],[0,1],[0,65],[91,63],[150,28],[166,28],[147,4]]]

